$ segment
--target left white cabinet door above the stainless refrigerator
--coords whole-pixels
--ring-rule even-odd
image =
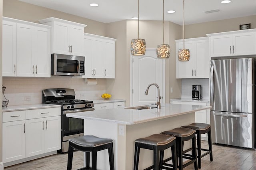
[[[213,36],[210,44],[211,57],[232,55],[232,35]]]

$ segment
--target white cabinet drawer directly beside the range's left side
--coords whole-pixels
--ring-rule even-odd
[[[46,109],[32,109],[26,111],[26,119],[60,116],[60,107]]]

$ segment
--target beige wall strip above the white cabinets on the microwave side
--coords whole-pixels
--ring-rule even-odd
[[[36,23],[38,23],[38,20],[44,18],[55,17],[86,24],[87,26],[84,28],[84,32],[106,36],[106,24],[102,22],[89,20],[87,18],[51,10],[49,8],[28,4],[18,0],[3,0],[3,16]]]

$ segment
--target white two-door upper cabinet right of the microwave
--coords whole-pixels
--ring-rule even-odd
[[[115,78],[116,39],[84,34],[84,78]]]

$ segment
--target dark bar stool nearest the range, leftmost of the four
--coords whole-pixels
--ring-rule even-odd
[[[68,167],[67,170],[72,168],[73,152],[74,149],[85,152],[86,167],[81,168],[84,170],[97,169],[97,152],[100,150],[108,149],[108,157],[110,170],[114,170],[114,151],[113,140],[108,138],[99,138],[93,135],[79,136],[68,140]],[[90,152],[92,152],[92,168],[90,168]]]

